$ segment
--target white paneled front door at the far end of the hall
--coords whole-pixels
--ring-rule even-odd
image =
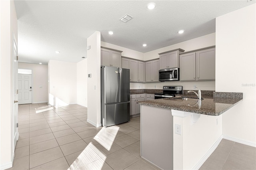
[[[32,75],[18,74],[19,104],[32,103]]]

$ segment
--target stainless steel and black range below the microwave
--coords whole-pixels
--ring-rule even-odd
[[[175,97],[182,95],[182,86],[164,86],[163,93],[155,93],[155,99]]]

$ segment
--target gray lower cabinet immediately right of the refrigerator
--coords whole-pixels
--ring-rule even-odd
[[[130,95],[130,115],[140,114],[140,104],[137,101],[144,101],[145,94]]]

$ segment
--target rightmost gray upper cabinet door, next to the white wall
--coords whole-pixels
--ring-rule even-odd
[[[197,80],[215,79],[215,48],[196,52]]]

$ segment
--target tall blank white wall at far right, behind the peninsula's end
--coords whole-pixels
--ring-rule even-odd
[[[222,115],[223,134],[254,146],[255,9],[253,4],[216,18],[216,91],[244,94],[242,102]]]

